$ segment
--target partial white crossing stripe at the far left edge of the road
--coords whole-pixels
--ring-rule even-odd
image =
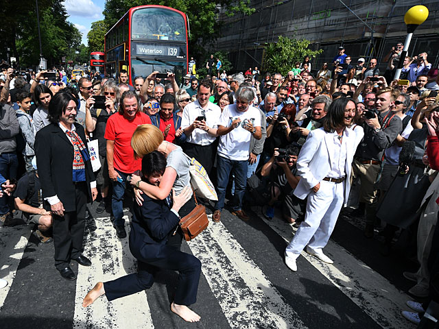
[[[25,252],[31,234],[31,226],[20,225],[0,228],[0,278],[8,281],[8,285],[0,289],[0,311],[12,286],[16,270]]]

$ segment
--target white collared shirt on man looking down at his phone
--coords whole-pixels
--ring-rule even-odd
[[[192,103],[187,104],[183,110],[183,117],[181,119],[181,128],[184,130],[189,127],[197,119],[204,115],[206,117],[206,125],[209,128],[217,128],[219,123],[219,117],[221,117],[221,108],[211,103],[207,103],[206,108],[202,108],[198,99]],[[201,130],[200,128],[195,128],[193,132],[187,136],[186,141],[188,143],[197,145],[211,145],[215,141],[216,137],[209,135],[209,133]]]

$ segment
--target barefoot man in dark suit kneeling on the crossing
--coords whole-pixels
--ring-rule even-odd
[[[153,151],[142,159],[142,173],[145,185],[156,187],[161,184],[167,168],[165,155]],[[97,282],[82,302],[83,307],[91,305],[98,297],[106,295],[110,302],[120,297],[132,295],[152,287],[153,273],[158,269],[178,271],[178,285],[171,311],[185,321],[200,321],[200,316],[189,305],[197,298],[201,263],[195,256],[179,252],[166,244],[180,216],[178,211],[191,198],[191,188],[185,187],[177,195],[165,200],[152,199],[145,195],[143,204],[134,204],[130,231],[130,251],[137,258],[137,273],[122,276],[108,282]]]

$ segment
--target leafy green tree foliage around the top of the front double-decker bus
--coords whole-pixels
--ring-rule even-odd
[[[137,5],[166,5],[185,12],[191,28],[189,52],[191,56],[198,58],[204,53],[204,46],[219,37],[220,10],[229,16],[239,12],[254,12],[254,9],[249,7],[250,0],[107,0],[104,9],[107,27],[112,27],[123,14]]]

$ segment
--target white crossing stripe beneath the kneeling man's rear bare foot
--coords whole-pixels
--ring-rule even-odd
[[[130,225],[125,216],[129,234]],[[130,253],[128,239],[119,240],[109,217],[95,219],[97,229],[89,232],[84,241],[84,255],[90,258],[91,267],[78,267],[75,295],[74,329],[154,328],[144,291],[107,302],[98,298],[91,306],[82,307],[86,293],[99,281],[115,280],[137,271],[135,258]]]

